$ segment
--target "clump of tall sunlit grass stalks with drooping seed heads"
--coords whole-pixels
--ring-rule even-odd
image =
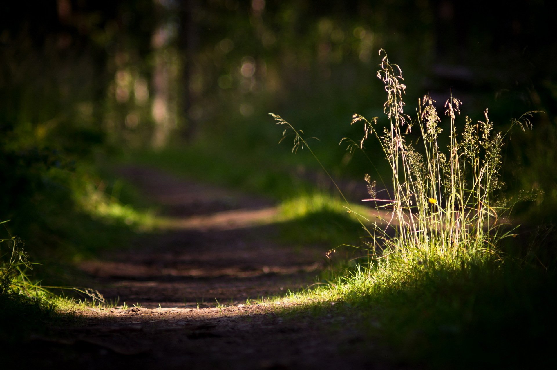
[[[419,100],[412,119],[404,113],[406,86],[402,71],[390,63],[384,50],[379,53],[384,55],[377,76],[387,92],[387,124],[380,125],[377,117],[368,120],[355,114],[352,124],[363,123],[363,138],[358,142],[341,140],[349,143],[350,150],[363,150],[368,140],[375,139],[391,170],[390,184],[383,183],[380,192],[377,182],[365,176],[370,198],[364,201],[385,208],[390,215],[370,227],[362,222],[368,232],[366,243],[372,251],[372,265],[382,271],[424,271],[466,269],[500,259],[498,246],[514,230],[508,218],[512,204],[497,197],[504,186],[500,179],[501,149],[512,126],[522,130],[531,126],[533,112],[512,121],[511,128],[502,133],[494,131],[486,109],[485,118],[476,123],[466,116],[459,131],[461,101],[453,96],[447,99],[447,122],[442,122],[436,101],[426,95]],[[280,116],[272,116],[278,124],[286,125],[283,139],[294,133],[294,152],[309,148],[301,131]],[[446,130],[448,144],[443,148],[441,134]],[[350,210],[348,202],[346,205]]]

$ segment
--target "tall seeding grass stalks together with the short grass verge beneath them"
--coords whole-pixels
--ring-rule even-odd
[[[368,189],[375,206],[393,217],[362,222],[369,226],[365,244],[373,251],[367,262],[348,272],[329,271],[319,284],[282,300],[302,303],[295,314],[348,318],[345,324],[365,338],[353,347],[367,356],[428,368],[549,364],[546,338],[556,328],[551,292],[557,276],[553,265],[531,254],[554,245],[533,245],[544,241],[538,238],[530,248],[512,247],[514,202],[505,199],[500,181],[506,134],[493,132],[487,110],[485,119],[472,123],[466,117],[458,129],[460,101],[452,96],[445,104],[448,124],[441,123],[429,96],[411,119],[403,112],[402,72],[386,55],[380,67],[388,122],[354,115],[353,124],[363,122],[365,135],[347,140],[362,149],[369,137],[383,149],[391,168],[387,194],[378,196],[369,176]],[[531,114],[511,126],[524,130]],[[273,116],[295,135],[294,150],[311,150],[300,131]],[[443,130],[447,149],[438,141]],[[351,205],[346,201],[345,207]]]

